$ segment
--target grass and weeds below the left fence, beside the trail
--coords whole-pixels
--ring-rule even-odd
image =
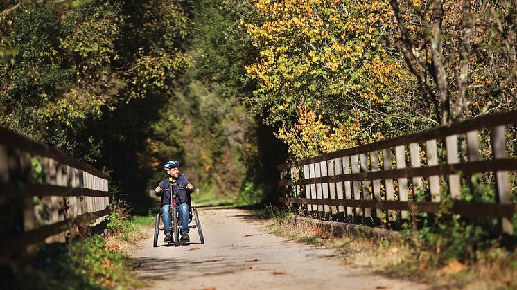
[[[130,251],[144,237],[152,215],[130,216],[121,201],[103,235],[78,237],[69,244],[42,245],[36,255],[3,260],[0,289],[134,289],[146,284],[132,275]]]

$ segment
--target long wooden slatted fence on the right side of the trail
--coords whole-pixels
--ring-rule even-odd
[[[517,159],[511,158],[517,155],[516,123],[517,111],[482,116],[281,164],[280,201],[374,224],[444,210],[497,217],[502,231],[512,233],[517,192],[509,175],[517,170]]]

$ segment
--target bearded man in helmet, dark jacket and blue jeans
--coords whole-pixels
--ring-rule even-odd
[[[161,195],[161,217],[164,221],[165,232],[164,242],[174,242],[170,236],[170,228],[168,228],[168,225],[170,225],[170,204],[172,204],[170,189],[175,194],[179,220],[182,222],[182,237],[179,241],[189,242],[189,199],[194,187],[183,174],[179,174],[179,162],[168,161],[165,163],[164,169],[168,177],[160,181],[155,188],[155,194],[157,196]]]

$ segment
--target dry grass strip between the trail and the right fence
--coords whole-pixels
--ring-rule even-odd
[[[294,219],[286,210],[263,212],[270,233],[299,242],[335,248],[342,264],[365,266],[377,273],[417,279],[451,289],[517,289],[517,251],[494,246],[475,258],[448,260],[441,253],[408,242],[367,239],[360,235],[336,237],[330,230]]]

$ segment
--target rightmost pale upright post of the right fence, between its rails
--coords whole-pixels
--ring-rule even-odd
[[[507,156],[504,125],[492,128],[492,152],[494,162],[497,162],[498,159],[505,159]],[[508,171],[502,170],[493,172],[493,177],[496,179],[496,197],[498,203],[510,203]],[[514,226],[511,224],[511,221],[507,217],[503,217],[501,219],[501,226],[503,233],[507,233],[509,235],[514,233]]]

